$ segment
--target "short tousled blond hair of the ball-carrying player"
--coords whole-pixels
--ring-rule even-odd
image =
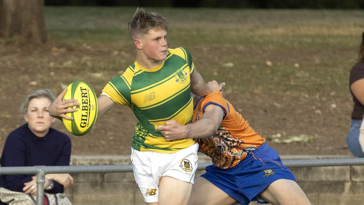
[[[143,8],[137,8],[133,18],[128,23],[128,30],[132,39],[138,34],[148,34],[150,30],[168,30],[167,19],[156,12],[145,12]]]

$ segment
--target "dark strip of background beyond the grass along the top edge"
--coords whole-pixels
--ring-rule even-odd
[[[364,0],[46,0],[46,5],[213,8],[364,8]]]

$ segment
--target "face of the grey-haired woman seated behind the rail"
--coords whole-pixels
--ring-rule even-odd
[[[55,121],[48,113],[51,101],[46,97],[33,98],[28,105],[28,111],[24,115],[29,129],[38,137],[47,135],[51,124]]]

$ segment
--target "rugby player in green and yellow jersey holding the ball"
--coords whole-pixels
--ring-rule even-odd
[[[128,25],[137,57],[134,64],[113,78],[98,100],[98,118],[114,104],[127,105],[138,118],[132,138],[131,161],[135,181],[148,205],[187,205],[197,166],[194,139],[167,141],[158,131],[167,120],[192,122],[191,92],[206,96],[211,90],[195,70],[189,51],[167,48],[166,18],[137,9]],[[78,104],[64,100],[66,89],[50,105],[50,115],[67,117]]]

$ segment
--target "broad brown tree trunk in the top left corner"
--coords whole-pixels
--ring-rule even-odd
[[[47,41],[44,0],[0,0],[0,36],[19,35],[30,43]]]

